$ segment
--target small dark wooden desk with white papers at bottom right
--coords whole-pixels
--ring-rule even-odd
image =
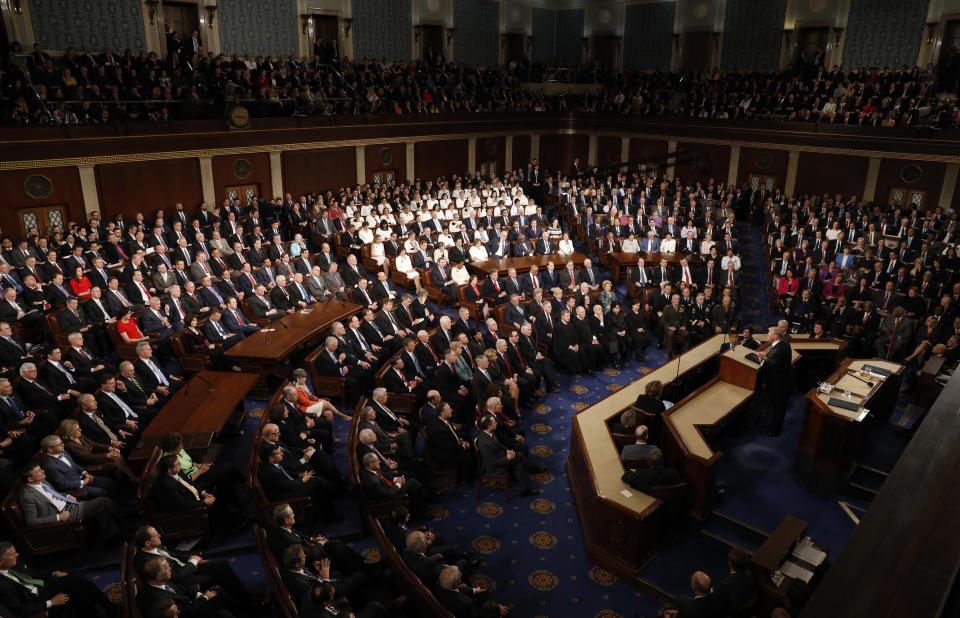
[[[776,577],[777,581],[774,581],[774,574],[782,570],[784,561],[789,559],[791,562],[813,571],[815,576],[822,570],[823,564],[826,564],[826,561],[820,565],[805,563],[791,554],[797,542],[803,539],[806,534],[807,522],[797,519],[793,515],[787,515],[777,526],[777,529],[767,537],[763,545],[754,552],[751,562],[757,583],[760,585],[757,615],[768,616],[774,607],[782,607],[786,602],[787,588],[793,578],[781,572],[780,576]],[[830,553],[827,547],[816,543],[813,545],[820,551]]]

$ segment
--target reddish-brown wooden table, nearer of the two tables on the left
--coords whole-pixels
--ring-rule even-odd
[[[232,419],[239,427],[246,420],[244,401],[256,382],[257,376],[251,373],[201,371],[153,417],[140,434],[129,460],[146,461],[153,447],[172,431],[183,435],[183,445],[188,451],[206,450],[227,421]]]

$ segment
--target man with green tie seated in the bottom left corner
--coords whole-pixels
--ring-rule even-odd
[[[5,575],[0,577],[0,604],[6,608],[4,616],[65,615],[61,609],[70,616],[97,616],[97,607],[107,616],[122,615],[121,608],[82,575],[30,568],[19,559],[13,543],[0,542],[0,573]]]

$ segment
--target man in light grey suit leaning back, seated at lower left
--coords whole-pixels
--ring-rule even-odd
[[[120,509],[109,498],[77,500],[62,494],[47,482],[47,475],[35,461],[22,470],[24,480],[20,490],[20,509],[27,526],[43,526],[68,519],[89,522],[100,533],[101,541],[110,541],[120,535],[117,518]]]

